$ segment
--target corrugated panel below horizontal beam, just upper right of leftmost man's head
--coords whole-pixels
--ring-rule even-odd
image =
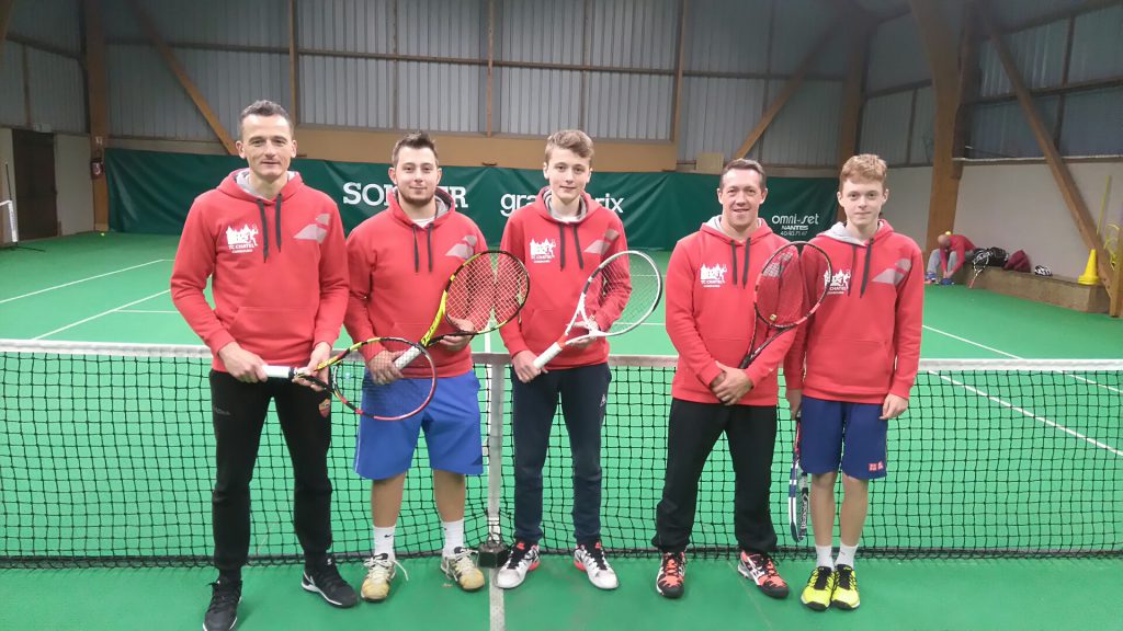
[[[394,124],[394,64],[301,55],[301,122],[390,129]]]

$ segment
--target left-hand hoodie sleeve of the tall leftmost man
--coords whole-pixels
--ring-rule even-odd
[[[207,280],[214,273],[214,237],[207,227],[206,202],[195,200],[188,212],[172,266],[172,302],[183,314],[191,330],[218,355],[223,346],[235,341],[203,296]]]

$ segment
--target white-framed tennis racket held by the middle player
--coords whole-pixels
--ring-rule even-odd
[[[585,281],[565,332],[535,358],[535,367],[542,369],[572,344],[627,333],[647,320],[660,295],[663,276],[650,256],[636,250],[613,254]]]

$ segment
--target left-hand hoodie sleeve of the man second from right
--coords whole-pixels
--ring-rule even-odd
[[[679,241],[667,264],[667,336],[686,367],[697,375],[705,387],[710,387],[710,383],[721,374],[721,368],[702,341],[693,316],[696,272],[687,252],[692,245]]]

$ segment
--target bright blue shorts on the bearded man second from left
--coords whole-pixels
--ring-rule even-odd
[[[405,381],[375,385],[367,373],[363,379],[363,409],[381,412],[380,405],[394,400],[395,387],[410,387],[403,383]],[[405,473],[423,429],[431,468],[463,475],[482,474],[484,451],[478,396],[480,379],[469,371],[455,377],[438,377],[432,401],[412,417],[401,421],[359,417],[355,473],[367,479],[386,479]]]

